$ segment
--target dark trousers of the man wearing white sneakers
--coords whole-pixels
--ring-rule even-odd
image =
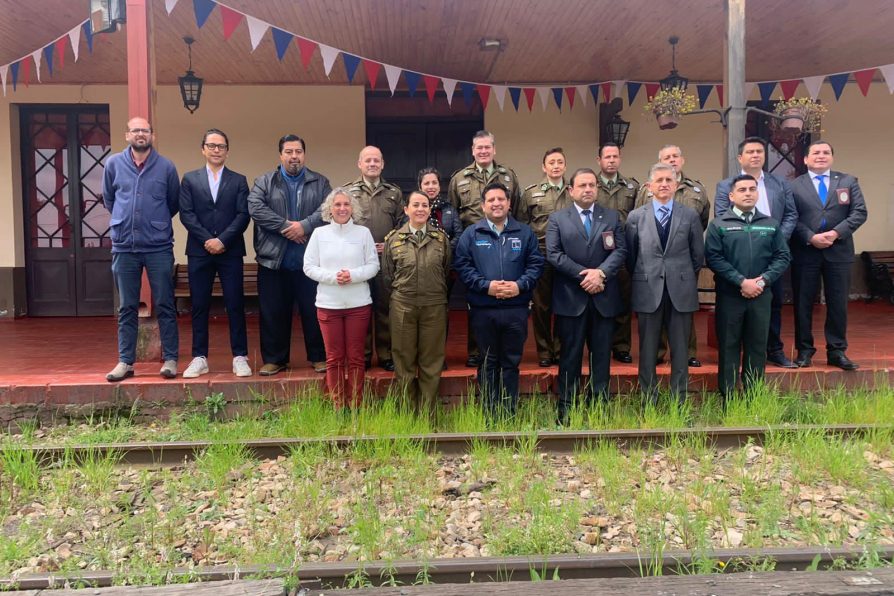
[[[220,286],[230,323],[230,350],[233,356],[248,356],[245,331],[245,295],[242,287],[242,255],[188,256],[189,297],[192,301],[192,355],[208,356],[208,311],[214,276]]]

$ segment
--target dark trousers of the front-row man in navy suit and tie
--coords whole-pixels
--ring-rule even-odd
[[[608,399],[609,368],[615,318],[603,317],[587,301],[583,314],[576,317],[556,315],[556,334],[562,342],[559,354],[559,418],[564,418],[580,392],[584,344],[590,353],[590,378],[584,391],[587,400]]]

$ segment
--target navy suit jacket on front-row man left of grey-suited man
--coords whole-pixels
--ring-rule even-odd
[[[546,224],[546,259],[556,269],[552,305],[557,315],[579,316],[588,301],[603,317],[614,317],[624,310],[617,278],[627,257],[620,215],[595,203],[590,209],[593,225],[589,237],[574,204],[551,214]],[[607,233],[611,233],[614,248],[605,246],[603,235]],[[580,272],[596,268],[605,272],[605,289],[588,294],[580,287]]]

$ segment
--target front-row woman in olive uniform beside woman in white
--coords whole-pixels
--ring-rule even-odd
[[[429,198],[413,191],[409,221],[385,238],[382,274],[391,288],[395,378],[420,412],[434,412],[447,341],[450,240],[431,226]]]

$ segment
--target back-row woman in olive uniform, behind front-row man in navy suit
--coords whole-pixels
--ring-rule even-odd
[[[543,173],[539,184],[525,188],[515,209],[515,218],[526,223],[534,231],[540,243],[540,252],[546,254],[546,223],[549,216],[571,204],[568,185],[565,183],[565,152],[561,147],[548,149],[543,154]],[[543,275],[534,287],[534,342],[540,366],[552,366],[559,361],[559,338],[553,334],[552,303],[553,267],[545,263]]]

